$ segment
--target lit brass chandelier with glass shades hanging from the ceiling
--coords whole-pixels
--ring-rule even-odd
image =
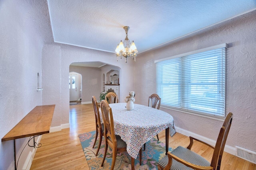
[[[116,57],[117,57],[117,61],[118,61],[118,57],[122,56],[125,57],[125,63],[127,63],[127,58],[132,56],[132,59],[134,59],[134,61],[136,61],[136,56],[138,53],[138,50],[134,44],[134,41],[132,41],[132,43],[130,43],[130,40],[128,39],[128,30],[130,29],[130,27],[125,26],[124,27],[124,31],[126,33],[126,37],[124,39],[124,42],[121,42],[117,45],[116,47]]]

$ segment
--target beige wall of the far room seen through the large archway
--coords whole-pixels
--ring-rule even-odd
[[[69,71],[82,74],[82,102],[91,102],[92,96],[95,96],[97,99],[100,97],[102,88],[102,76],[100,68],[70,66]]]

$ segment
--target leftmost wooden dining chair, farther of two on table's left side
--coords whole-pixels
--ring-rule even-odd
[[[98,103],[97,103],[97,100],[95,98],[95,96],[92,96],[92,106],[93,106],[93,109],[94,109],[94,115],[95,115],[95,122],[96,122],[96,137],[95,137],[95,141],[94,141],[94,144],[93,144],[93,147],[95,146],[96,144],[96,141],[97,141],[97,138],[98,138],[98,135],[99,135],[99,145],[98,145],[98,149],[97,149],[97,152],[96,152],[96,156],[98,155],[98,152],[100,150],[100,145],[101,145],[101,141],[102,141],[102,136],[104,136],[104,125],[103,123],[100,123],[100,112],[99,112],[99,107],[98,107]]]

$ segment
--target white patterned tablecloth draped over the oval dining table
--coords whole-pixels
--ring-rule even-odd
[[[168,113],[152,107],[134,104],[133,110],[126,109],[126,103],[110,104],[115,134],[127,144],[127,152],[136,158],[140,148],[156,134],[170,127],[170,136],[176,133],[174,119]],[[101,109],[100,119],[102,121]]]

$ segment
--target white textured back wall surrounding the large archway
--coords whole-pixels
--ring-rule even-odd
[[[51,127],[69,123],[69,66],[74,62],[100,61],[112,66],[122,68],[120,74],[120,98],[134,89],[134,62],[125,63],[116,61],[114,53],[106,53],[92,49],[84,49],[71,45],[46,44],[42,53],[42,70],[44,70],[42,84],[54,82],[56,86],[46,86],[43,90],[42,102],[56,104]],[[124,72],[125,74],[122,74]],[[54,74],[52,74],[54,73]],[[102,78],[100,78],[100,86]],[[44,88],[44,87],[43,87]],[[90,89],[89,89],[90,90]],[[83,89],[84,91],[84,89]],[[52,94],[54,93],[54,95]]]

